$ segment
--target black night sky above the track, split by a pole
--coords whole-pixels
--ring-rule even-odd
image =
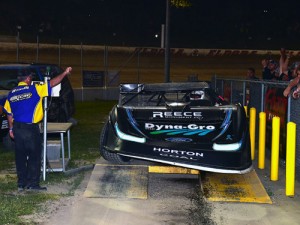
[[[190,2],[171,8],[171,47],[300,47],[300,1]],[[42,31],[47,41],[159,47],[165,12],[165,0],[1,1],[0,35],[16,35],[21,25],[24,41]]]

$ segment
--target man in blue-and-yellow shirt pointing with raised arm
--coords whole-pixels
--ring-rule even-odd
[[[44,117],[43,98],[51,94],[52,87],[70,74],[71,67],[44,84],[31,84],[32,73],[22,71],[18,86],[13,88],[5,102],[9,135],[15,140],[15,160],[18,191],[47,190],[40,186],[42,137],[39,122]]]

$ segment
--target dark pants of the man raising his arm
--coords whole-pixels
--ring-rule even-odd
[[[14,122],[18,186],[39,185],[41,174],[41,134],[38,124]]]

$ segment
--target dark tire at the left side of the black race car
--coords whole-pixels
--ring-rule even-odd
[[[116,164],[126,164],[128,161],[130,161],[130,158],[118,155],[117,153],[109,152],[104,147],[108,136],[108,126],[108,121],[106,121],[100,134],[100,155],[109,162]]]

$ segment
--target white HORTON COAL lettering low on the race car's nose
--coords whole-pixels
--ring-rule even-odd
[[[158,152],[160,156],[177,159],[198,160],[199,158],[204,157],[204,154],[202,152],[183,151],[160,147],[153,147],[153,152]]]

